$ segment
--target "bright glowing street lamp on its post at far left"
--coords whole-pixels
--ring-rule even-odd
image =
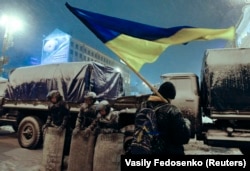
[[[0,74],[2,75],[4,69],[4,64],[7,63],[7,56],[5,52],[13,46],[13,33],[21,28],[21,21],[17,18],[3,15],[0,20],[0,25],[4,27],[4,37],[3,37],[3,46],[2,54],[0,57]]]

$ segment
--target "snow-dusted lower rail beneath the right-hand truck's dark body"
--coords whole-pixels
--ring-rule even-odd
[[[239,148],[249,146],[250,133],[234,131],[231,134],[222,130],[209,130],[204,143],[215,147]]]

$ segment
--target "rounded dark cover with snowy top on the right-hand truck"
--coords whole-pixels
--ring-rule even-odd
[[[212,110],[250,109],[250,49],[211,49],[201,71],[201,101]]]

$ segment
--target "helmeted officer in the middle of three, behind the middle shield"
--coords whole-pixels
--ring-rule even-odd
[[[73,135],[76,135],[80,130],[85,129],[96,118],[97,103],[98,101],[95,92],[88,92],[84,96],[84,103],[80,107]]]

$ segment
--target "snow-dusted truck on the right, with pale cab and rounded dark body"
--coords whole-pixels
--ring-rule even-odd
[[[177,88],[173,101],[192,122],[193,137],[250,154],[250,49],[208,49],[201,75],[167,73]]]

